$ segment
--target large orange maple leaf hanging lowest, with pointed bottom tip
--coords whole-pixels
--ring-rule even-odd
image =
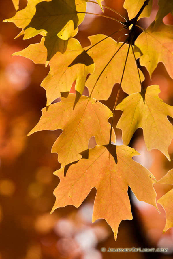
[[[79,207],[95,187],[93,222],[104,218],[114,231],[116,240],[121,220],[132,219],[127,194],[128,186],[138,200],[156,206],[154,176],[132,157],[139,153],[128,146],[95,146],[81,153],[78,163],[72,164],[64,177],[64,168],[54,172],[60,183],[54,191],[56,202],[52,212],[59,207]]]

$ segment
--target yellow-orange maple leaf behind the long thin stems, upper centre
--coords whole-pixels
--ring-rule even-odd
[[[106,37],[107,36],[103,34],[97,34],[88,37],[91,41],[91,46],[86,47],[85,49],[87,50],[91,48],[94,44],[103,40]],[[86,81],[86,86],[88,87],[89,92],[91,92],[101,71],[104,69],[106,64],[119,49],[119,47],[121,47],[122,44],[122,42],[117,43],[114,39],[108,37],[107,39],[101,41],[99,44],[93,46],[87,51],[87,53],[93,58],[95,63],[95,71],[92,75],[89,76]],[[129,44],[124,44],[119,52],[117,52],[117,54],[111,60],[109,65],[106,67],[93,90],[93,98],[97,100],[107,100],[112,92],[113,85],[115,83],[120,83],[128,47]],[[136,58],[139,58],[139,56],[140,53],[137,53]],[[123,80],[121,85],[124,92],[126,92],[127,94],[132,94],[134,92],[140,91],[141,86],[133,52],[129,53],[124,77],[125,80]],[[141,71],[140,77],[143,81],[144,75]]]

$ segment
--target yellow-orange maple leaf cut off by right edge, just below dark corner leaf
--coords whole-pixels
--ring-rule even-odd
[[[147,68],[151,77],[157,64],[163,62],[173,78],[173,26],[161,22],[154,31],[153,27],[154,22],[135,41],[135,45],[143,53],[140,64]]]

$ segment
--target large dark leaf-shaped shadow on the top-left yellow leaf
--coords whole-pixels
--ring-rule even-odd
[[[75,0],[42,1],[36,5],[36,12],[30,23],[24,28],[46,31],[44,45],[47,48],[47,61],[57,53],[64,53],[68,40],[74,36],[78,27]]]

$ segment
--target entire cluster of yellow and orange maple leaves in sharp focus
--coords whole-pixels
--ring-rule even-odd
[[[19,1],[12,1],[17,10]],[[128,186],[138,200],[157,208],[155,177],[132,159],[139,153],[127,146],[136,129],[143,129],[148,150],[157,148],[170,161],[168,147],[173,127],[167,116],[173,117],[173,107],[159,98],[158,85],[142,88],[145,78],[136,60],[139,58],[150,77],[157,64],[163,62],[173,78],[173,26],[162,20],[169,12],[173,13],[173,4],[159,0],[155,20],[147,29],[141,28],[142,33],[134,41],[137,21],[150,16],[152,0],[125,0],[129,19],[119,13],[123,21],[112,18],[120,22],[122,28],[109,36],[92,35],[89,37],[91,45],[82,48],[74,36],[87,13],[87,2],[99,4],[103,12],[110,9],[102,5],[101,0],[28,0],[25,9],[5,21],[21,28],[18,36],[24,35],[23,39],[42,35],[40,43],[31,44],[13,55],[50,66],[41,83],[46,89],[47,104],[40,121],[28,135],[40,130],[62,129],[52,147],[61,163],[61,169],[54,172],[61,182],[54,191],[56,202],[52,211],[66,205],[79,207],[95,187],[93,221],[106,219],[116,239],[121,220],[132,219]],[[130,31],[124,42],[111,37],[128,27]],[[74,82],[76,94],[70,93]],[[115,83],[119,83],[119,89],[112,113],[100,100],[109,98]],[[89,96],[82,95],[85,86]],[[128,96],[117,105],[121,88]],[[61,101],[54,103],[59,97]],[[122,146],[115,145],[113,119],[116,110],[123,111],[117,124],[122,129]],[[92,136],[97,145],[88,149]],[[171,170],[158,183],[173,184],[172,178]],[[158,202],[166,210],[165,232],[173,226],[172,190]]]

